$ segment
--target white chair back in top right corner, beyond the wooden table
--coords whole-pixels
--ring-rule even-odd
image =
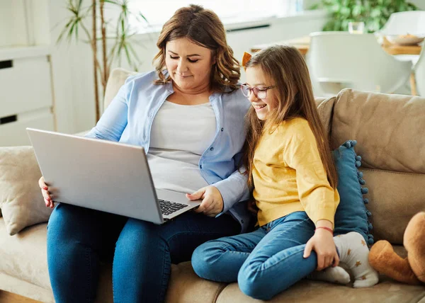
[[[425,36],[425,11],[401,11],[392,13],[387,23],[378,30],[379,35]]]

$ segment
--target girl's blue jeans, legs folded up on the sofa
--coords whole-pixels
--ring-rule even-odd
[[[245,295],[271,299],[317,268],[312,251],[303,258],[314,224],[305,212],[293,212],[256,231],[208,241],[193,252],[192,266],[201,277],[238,282]]]

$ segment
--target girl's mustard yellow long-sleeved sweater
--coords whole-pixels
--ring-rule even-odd
[[[259,225],[305,211],[314,223],[334,224],[338,191],[329,185],[316,139],[307,120],[282,122],[264,132],[254,154],[254,198]]]

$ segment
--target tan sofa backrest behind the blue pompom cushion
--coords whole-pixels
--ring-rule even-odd
[[[318,109],[332,149],[358,142],[375,241],[403,244],[407,223],[425,210],[425,98],[347,88]]]

